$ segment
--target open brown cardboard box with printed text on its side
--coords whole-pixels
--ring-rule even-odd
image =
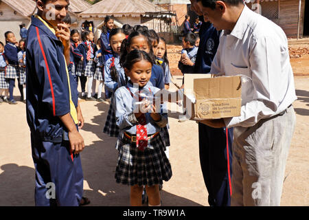
[[[187,111],[192,112],[190,118],[205,120],[240,116],[241,82],[241,76],[210,78],[210,74],[185,74],[185,105]]]

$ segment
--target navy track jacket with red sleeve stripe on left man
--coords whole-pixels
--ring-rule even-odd
[[[42,21],[32,17],[26,41],[27,123],[47,142],[62,142],[64,124],[59,116],[70,112],[67,63],[62,42]],[[78,104],[77,84],[69,74],[71,98]]]

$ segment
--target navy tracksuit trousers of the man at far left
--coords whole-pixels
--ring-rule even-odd
[[[69,141],[43,142],[32,133],[31,142],[36,206],[79,206],[83,190],[80,155],[73,155],[72,161]]]

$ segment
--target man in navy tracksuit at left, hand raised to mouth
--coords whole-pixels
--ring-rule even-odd
[[[45,7],[47,3],[56,5]],[[78,132],[84,119],[76,82],[69,74],[69,29],[60,23],[68,0],[36,0],[27,35],[27,122],[36,170],[36,206],[79,206],[83,174]],[[46,14],[55,15],[47,19]],[[53,19],[53,20],[52,20]]]

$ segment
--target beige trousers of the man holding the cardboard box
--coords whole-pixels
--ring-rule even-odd
[[[290,106],[249,128],[234,128],[231,206],[280,206],[295,122]]]

